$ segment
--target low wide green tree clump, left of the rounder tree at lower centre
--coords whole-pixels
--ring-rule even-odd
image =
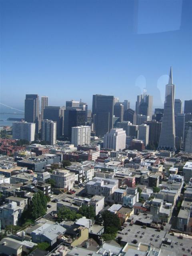
[[[59,221],[63,220],[71,220],[74,221],[76,219],[82,218],[82,215],[77,213],[74,210],[70,210],[69,208],[62,206],[58,209],[57,217]]]

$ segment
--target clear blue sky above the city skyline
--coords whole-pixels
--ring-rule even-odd
[[[25,94],[135,106],[144,87],[164,100],[170,66],[176,98],[192,98],[191,0],[0,0],[0,101]]]

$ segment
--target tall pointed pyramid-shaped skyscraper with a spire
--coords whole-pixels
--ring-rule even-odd
[[[166,85],[164,114],[158,150],[175,151],[175,116],[174,116],[175,85],[170,69],[169,82]]]

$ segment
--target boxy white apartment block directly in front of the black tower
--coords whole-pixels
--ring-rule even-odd
[[[91,126],[72,127],[71,143],[75,147],[89,145],[91,142]]]

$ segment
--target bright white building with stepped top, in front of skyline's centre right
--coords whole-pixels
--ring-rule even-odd
[[[104,148],[116,151],[126,148],[126,131],[122,128],[111,129],[110,132],[104,135]]]

